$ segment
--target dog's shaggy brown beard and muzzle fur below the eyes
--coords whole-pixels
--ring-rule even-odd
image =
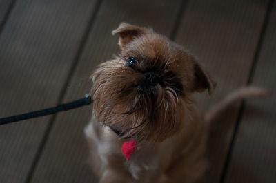
[[[184,99],[170,87],[144,85],[144,75],[120,59],[103,63],[92,75],[95,118],[124,136],[161,142],[183,125]]]

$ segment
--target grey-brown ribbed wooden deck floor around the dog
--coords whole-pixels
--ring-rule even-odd
[[[187,47],[217,80],[204,110],[244,85],[276,91],[273,0],[0,0],[0,117],[83,97],[95,66],[117,53],[111,30],[150,26]],[[276,182],[276,96],[224,114],[204,182]],[[83,128],[90,107],[0,127],[0,182],[97,182]]]

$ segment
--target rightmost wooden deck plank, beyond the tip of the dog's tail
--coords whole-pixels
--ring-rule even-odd
[[[253,85],[273,96],[248,100],[225,182],[276,182],[276,4],[257,61]]]

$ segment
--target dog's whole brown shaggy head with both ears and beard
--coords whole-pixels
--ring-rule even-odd
[[[152,30],[121,23],[121,54],[92,74],[99,122],[137,141],[161,142],[181,129],[190,94],[215,83],[181,46]]]

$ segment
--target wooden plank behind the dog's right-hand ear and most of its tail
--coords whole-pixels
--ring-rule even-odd
[[[204,63],[217,81],[213,96],[197,94],[206,111],[246,84],[268,1],[189,1],[176,41]],[[239,107],[224,114],[211,132],[210,169],[204,182],[219,182]]]

